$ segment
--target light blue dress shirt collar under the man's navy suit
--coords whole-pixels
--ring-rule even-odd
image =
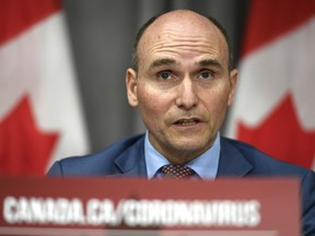
[[[187,164],[201,179],[214,179],[219,167],[220,156],[220,133],[218,132],[213,145],[200,156],[197,156]],[[147,164],[148,178],[159,177],[160,168],[170,164],[168,160],[159,153],[145,133],[144,158]]]

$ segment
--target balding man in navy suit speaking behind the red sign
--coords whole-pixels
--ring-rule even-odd
[[[315,235],[315,174],[277,161],[255,148],[220,137],[232,104],[237,71],[224,28],[213,19],[177,10],[139,31],[126,73],[129,104],[145,134],[85,157],[56,162],[48,175],[160,178],[163,166],[187,166],[194,178],[298,176],[303,232]]]

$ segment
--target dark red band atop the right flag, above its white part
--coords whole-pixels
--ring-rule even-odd
[[[314,0],[252,0],[242,57],[314,17]]]

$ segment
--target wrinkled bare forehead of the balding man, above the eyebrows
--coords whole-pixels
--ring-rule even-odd
[[[228,58],[228,43],[221,31],[207,17],[191,12],[162,15],[143,33],[138,56],[141,60],[149,52],[159,49],[217,51]],[[208,50],[208,51],[207,51]],[[200,51],[199,51],[200,52]]]

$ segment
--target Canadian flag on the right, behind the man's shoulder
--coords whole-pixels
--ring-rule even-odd
[[[315,168],[315,1],[250,3],[228,133]]]

